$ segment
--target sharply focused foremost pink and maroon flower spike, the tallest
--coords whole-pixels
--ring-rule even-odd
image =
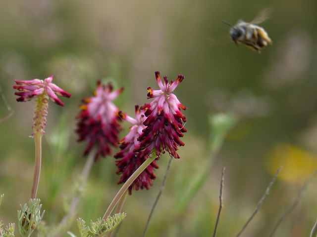
[[[174,158],[180,158],[176,153],[179,146],[184,146],[180,140],[186,128],[183,122],[186,117],[180,109],[186,110],[177,97],[172,93],[178,84],[184,79],[183,75],[178,75],[175,81],[168,82],[166,76],[163,81],[159,72],[155,73],[159,90],[148,87],[148,99],[154,99],[149,104],[142,106],[140,109],[145,110],[147,117],[143,124],[146,128],[140,135],[140,148],[136,152],[140,152],[141,156],[149,156],[156,151],[157,158],[161,153],[167,151]]]

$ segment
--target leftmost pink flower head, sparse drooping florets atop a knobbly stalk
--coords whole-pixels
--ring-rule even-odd
[[[18,102],[25,102],[46,93],[54,103],[64,106],[57,95],[69,98],[71,94],[53,84],[53,78],[54,76],[48,77],[45,80],[14,80],[16,85],[13,86],[13,89],[18,90],[18,92],[15,92],[14,94],[20,96],[16,100]]]

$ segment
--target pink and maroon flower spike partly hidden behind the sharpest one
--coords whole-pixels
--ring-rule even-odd
[[[140,111],[138,105],[135,106],[135,118],[132,118],[121,111],[119,116],[132,123],[133,126],[130,127],[130,132],[120,141],[121,151],[114,155],[114,158],[120,158],[116,161],[118,167],[116,173],[121,174],[118,184],[125,183],[128,178],[140,167],[140,165],[145,161],[147,157],[140,157],[139,152],[134,152],[134,150],[140,149],[140,142],[138,137],[142,134],[142,130],[145,128],[143,125],[145,116],[144,110]],[[129,194],[131,195],[132,189],[149,189],[152,186],[152,180],[156,178],[154,174],[154,169],[158,169],[156,161],[154,160],[129,186]]]

